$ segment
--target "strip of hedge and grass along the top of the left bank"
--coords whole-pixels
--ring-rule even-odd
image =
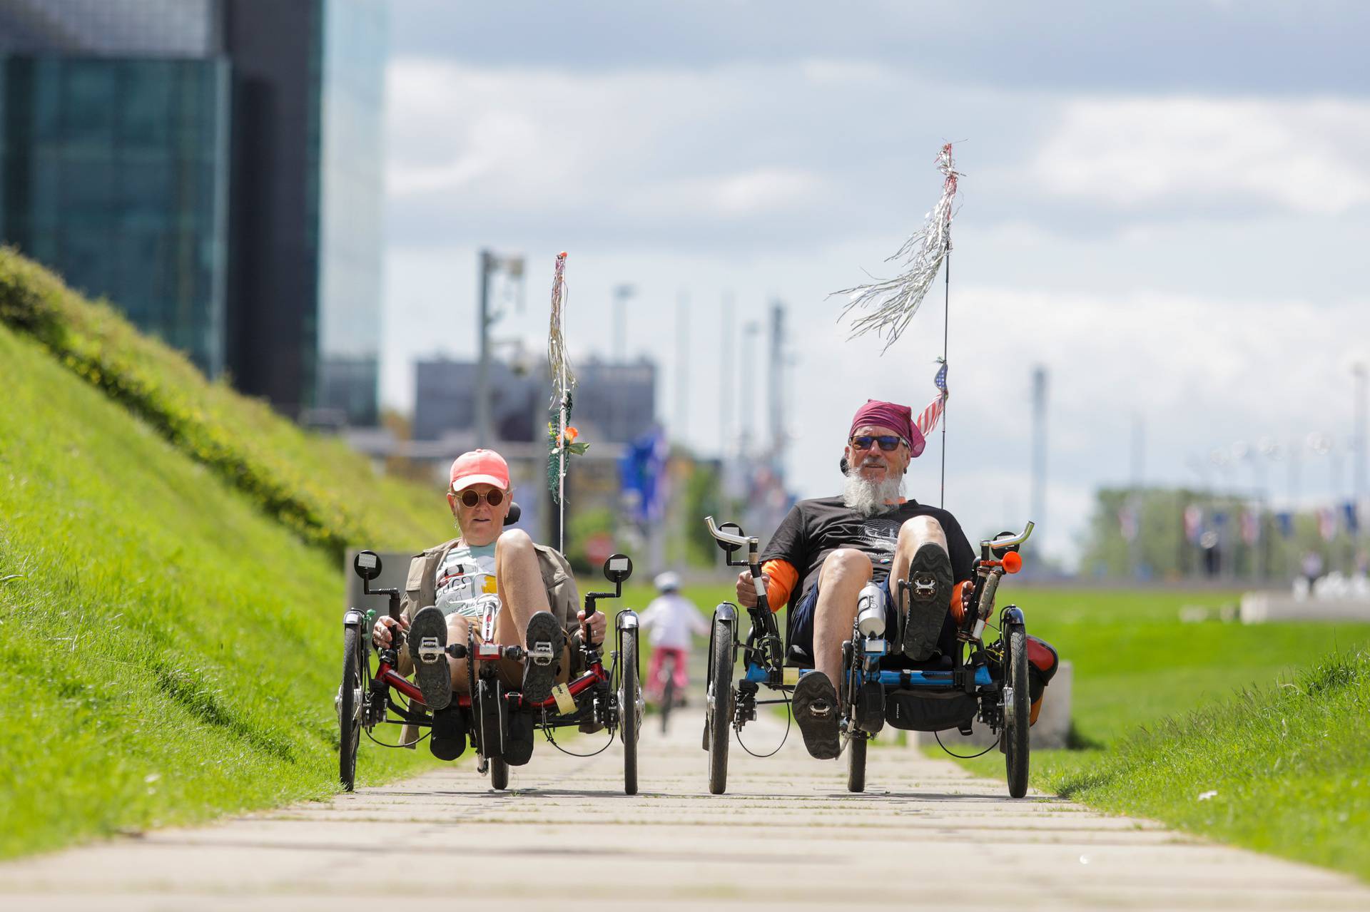
[[[0,323],[37,340],[308,542],[341,555],[359,542],[407,548],[434,537],[433,494],[377,475],[341,441],[207,381],[179,352],[10,248],[0,248]]]

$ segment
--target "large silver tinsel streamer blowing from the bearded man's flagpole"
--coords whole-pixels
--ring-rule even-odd
[[[941,148],[937,155],[937,170],[943,173],[943,193],[937,205],[927,214],[927,220],[921,229],[914,231],[904,241],[886,263],[895,260],[904,262],[904,271],[886,282],[871,285],[858,285],[856,288],[833,292],[833,294],[847,294],[851,300],[843,308],[841,318],[852,311],[864,311],[863,315],[852,320],[852,331],[848,338],[856,338],[866,333],[875,333],[885,338],[885,348],[895,344],[895,340],[904,331],[908,322],[918,312],[918,305],[923,303],[923,296],[932,288],[933,279],[943,267],[947,253],[951,251],[951,219],[956,197],[956,170],[951,157],[951,142]],[[838,318],[838,319],[841,319]]]

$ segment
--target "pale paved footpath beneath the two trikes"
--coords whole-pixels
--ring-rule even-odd
[[[12,861],[0,865],[0,907],[299,912],[403,896],[562,912],[867,897],[875,908],[1015,912],[1370,908],[1370,889],[1344,875],[1059,798],[1012,801],[1003,783],[912,749],[873,748],[869,790],[849,794],[845,761],[808,759],[797,730],[764,760],[734,742],[727,794],[710,796],[700,718],[673,719],[669,737],[655,722],[634,797],[622,793],[616,744],[589,760],[541,744],[508,793],[490,791],[463,757],[332,801]],[[758,750],[784,731],[762,723],[744,730]],[[363,768],[369,749],[363,741]]]

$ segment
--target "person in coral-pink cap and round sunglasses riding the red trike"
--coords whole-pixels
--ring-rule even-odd
[[[455,760],[466,749],[466,730],[452,701],[452,690],[467,690],[466,659],[438,656],[437,661],[419,661],[419,644],[427,639],[445,646],[466,642],[467,631],[477,639],[523,648],[547,644],[559,660],[551,664],[500,660],[506,683],[519,687],[527,700],[541,702],[558,681],[570,671],[566,627],[577,626],[571,618],[558,618],[552,611],[549,587],[570,587],[570,598],[556,598],[563,612],[577,604],[574,581],[564,559],[549,548],[534,545],[521,529],[504,529],[512,500],[510,467],[493,449],[473,449],[452,463],[447,503],[456,518],[460,535],[416,555],[410,564],[401,598],[400,627],[408,631],[408,650],[401,656],[400,671],[414,670],[423,690],[423,702],[433,709],[433,753]],[[584,620],[584,616],[578,618]],[[390,642],[389,616],[381,616],[373,630],[373,642]],[[604,639],[603,612],[590,616],[590,637]],[[575,634],[578,635],[578,633]],[[532,715],[527,731],[511,731],[504,759],[511,764],[526,763],[532,756]]]

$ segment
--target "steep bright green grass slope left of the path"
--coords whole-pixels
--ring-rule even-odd
[[[279,448],[278,478],[375,483],[182,367],[162,382],[241,452]],[[340,561],[88,381],[0,326],[0,856],[336,789]],[[445,534],[440,509],[369,509],[371,541]],[[370,749],[360,774],[425,755]]]

